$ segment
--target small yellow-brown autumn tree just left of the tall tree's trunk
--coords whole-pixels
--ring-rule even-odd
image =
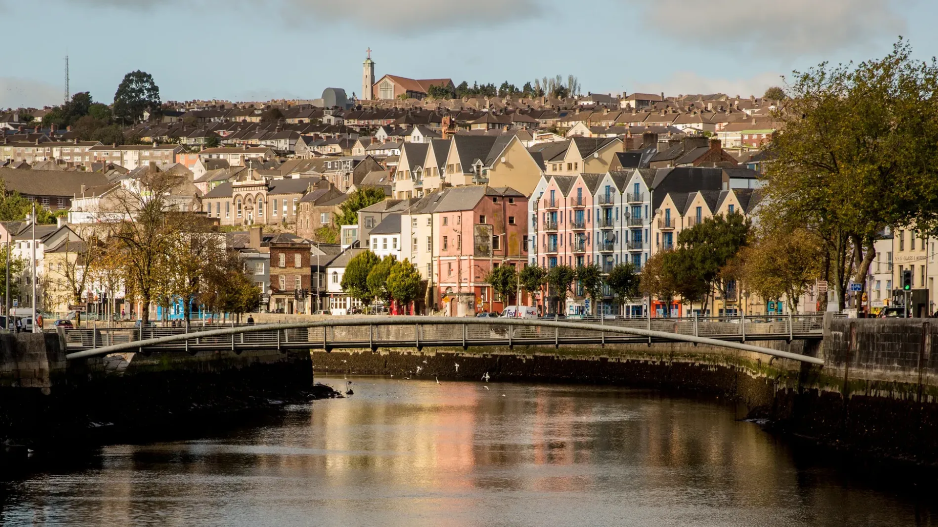
[[[764,300],[784,295],[789,310],[796,312],[801,295],[821,277],[824,250],[824,241],[806,229],[763,233],[742,259],[747,290]]]

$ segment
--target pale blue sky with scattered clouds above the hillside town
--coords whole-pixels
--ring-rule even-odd
[[[319,98],[376,77],[514,83],[576,75],[582,92],[761,96],[822,61],[938,50],[935,0],[0,0],[0,109],[111,102],[124,75],[162,99]]]

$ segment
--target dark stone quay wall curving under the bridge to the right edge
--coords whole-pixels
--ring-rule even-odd
[[[925,325],[923,325],[923,323]],[[560,349],[315,351],[321,373],[492,382],[618,384],[734,397],[749,416],[820,444],[938,464],[938,327],[828,320],[825,339],[759,345],[822,357],[823,367],[685,343]],[[456,365],[459,364],[459,369]],[[419,373],[417,373],[419,369]]]

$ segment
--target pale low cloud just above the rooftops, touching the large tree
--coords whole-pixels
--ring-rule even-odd
[[[748,98],[750,95],[762,97],[765,88],[769,86],[782,85],[779,73],[764,72],[753,77],[734,79],[734,78],[715,78],[703,77],[693,71],[678,71],[667,79],[658,83],[636,83],[628,93],[653,93],[664,92],[666,96],[678,96],[687,94],[716,94],[723,93],[730,97],[740,96]]]

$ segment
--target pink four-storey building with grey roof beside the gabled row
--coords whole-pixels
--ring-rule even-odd
[[[432,214],[433,295],[449,316],[501,311],[516,302],[493,297],[486,282],[498,265],[527,261],[528,199],[514,188],[444,188],[424,198]],[[507,300],[505,302],[504,300]]]

